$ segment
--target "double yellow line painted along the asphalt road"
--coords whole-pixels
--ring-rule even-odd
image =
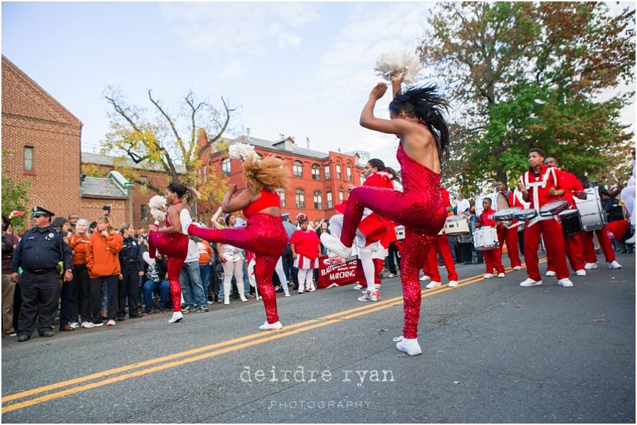
[[[540,260],[540,262],[545,262],[546,260]],[[525,264],[522,264],[524,267]],[[507,269],[509,271],[510,269]],[[471,276],[466,279],[461,279],[459,281],[460,286],[466,286],[469,284],[473,284],[477,281],[482,280],[482,275]],[[451,291],[455,288],[449,288],[449,286],[440,286],[435,289],[425,289],[421,291],[421,297],[426,298],[427,296],[432,296],[437,293]],[[21,402],[15,402],[8,405],[3,405],[2,413],[11,412],[13,410],[22,409],[24,407],[33,406],[34,404],[40,404],[42,402],[47,402],[49,400],[54,400],[60,397],[65,397],[67,395],[76,394],[77,392],[83,392],[87,390],[91,390],[93,388],[103,387],[104,385],[121,382],[123,380],[127,380],[130,378],[136,378],[137,376],[148,375],[149,373],[164,371],[169,368],[174,368],[176,366],[181,366],[188,363],[193,363],[195,361],[200,361],[204,359],[210,359],[214,356],[219,356],[221,354],[229,353],[230,351],[236,351],[239,349],[253,347],[258,344],[263,344],[265,342],[269,342],[275,339],[281,339],[285,337],[289,337],[295,334],[299,334],[301,332],[307,332],[309,330],[313,330],[319,327],[333,325],[334,323],[341,322],[343,320],[349,320],[353,318],[360,317],[362,315],[366,315],[369,313],[374,313],[379,310],[385,310],[386,308],[391,308],[396,305],[400,305],[403,303],[403,297],[397,296],[394,298],[389,298],[385,301],[378,301],[372,304],[362,305],[357,308],[350,308],[349,310],[339,311],[337,313],[333,313],[330,315],[323,316],[321,318],[305,320],[304,322],[294,323],[294,325],[287,325],[285,328],[275,332],[263,333],[259,332],[256,334],[249,334],[245,337],[240,337],[236,339],[230,339],[229,341],[218,342],[217,344],[210,344],[204,347],[199,347],[196,349],[181,351],[180,353],[171,354],[168,356],[157,357],[156,359],[149,359],[147,361],[141,361],[139,363],[132,363],[126,366],[120,366],[118,368],[108,369],[106,371],[91,373],[90,375],[80,376],[78,378],[73,378],[69,380],[64,380],[59,383],[53,383],[50,385],[44,385],[42,387],[33,388],[33,390],[26,390],[21,392],[16,392],[15,394],[7,395],[6,397],[2,397],[2,404],[6,404],[7,402],[13,402],[14,400],[20,400],[26,397],[30,397],[33,395],[38,395],[42,392],[49,392],[52,390],[59,390],[62,388],[67,388],[65,390],[51,392],[47,395],[41,395],[40,397],[35,397],[30,400],[24,400]],[[163,363],[163,364],[159,364]],[[157,365],[157,366],[152,366]],[[151,366],[151,367],[147,367]],[[135,369],[140,369],[134,371]],[[122,373],[128,372],[130,373]],[[117,375],[118,373],[122,373],[121,375]],[[117,375],[117,376],[112,376]],[[110,377],[110,378],[109,378]],[[105,378],[105,379],[103,379]],[[96,382],[86,383],[88,381],[96,380]],[[76,384],[85,383],[83,385],[72,386]]]

